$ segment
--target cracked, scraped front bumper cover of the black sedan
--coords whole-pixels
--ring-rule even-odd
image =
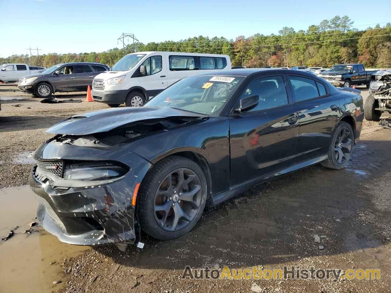
[[[117,150],[119,149],[119,150]],[[84,156],[84,152],[90,155]],[[35,159],[81,159],[121,161],[131,170],[120,179],[106,184],[84,187],[69,187],[66,190],[39,182],[30,172],[29,184],[39,202],[37,218],[42,227],[65,243],[76,245],[102,245],[109,243],[131,243],[135,241],[135,207],[131,204],[137,183],[141,182],[151,164],[121,147],[115,151],[89,147],[75,147],[61,143],[45,143],[34,153]],[[125,155],[126,154],[126,155]],[[61,187],[65,185],[60,180]],[[71,180],[70,180],[71,181]],[[91,181],[88,181],[91,182]],[[70,184],[72,185],[72,184]]]

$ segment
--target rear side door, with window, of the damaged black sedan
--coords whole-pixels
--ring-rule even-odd
[[[299,113],[297,162],[327,154],[331,135],[341,116],[339,102],[328,86],[307,76],[288,75]]]

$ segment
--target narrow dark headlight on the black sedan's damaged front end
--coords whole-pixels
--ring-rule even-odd
[[[65,166],[64,179],[103,181],[122,177],[128,171],[129,168],[116,162],[71,163]]]

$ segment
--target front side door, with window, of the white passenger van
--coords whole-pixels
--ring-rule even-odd
[[[141,64],[145,66],[147,75],[139,76],[138,81],[147,91],[147,100],[167,88],[167,66],[163,60],[163,55],[154,55]]]

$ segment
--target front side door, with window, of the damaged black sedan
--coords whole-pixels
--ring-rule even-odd
[[[298,113],[284,75],[253,79],[240,94],[259,104],[230,121],[231,187],[283,170],[295,161]]]

